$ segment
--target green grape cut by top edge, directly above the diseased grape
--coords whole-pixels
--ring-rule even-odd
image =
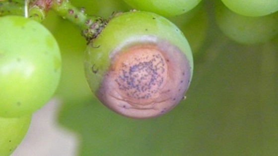
[[[125,0],[130,6],[162,16],[176,16],[193,9],[201,0]]]

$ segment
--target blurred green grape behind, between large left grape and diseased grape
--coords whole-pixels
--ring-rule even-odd
[[[55,95],[62,101],[91,97],[82,63],[86,41],[80,35],[80,30],[70,22],[60,21],[53,35],[59,43],[64,67]]]

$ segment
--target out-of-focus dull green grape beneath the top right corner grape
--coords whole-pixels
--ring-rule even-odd
[[[278,12],[267,16],[248,17],[234,13],[218,2],[215,16],[220,30],[241,44],[264,43],[278,34]]]

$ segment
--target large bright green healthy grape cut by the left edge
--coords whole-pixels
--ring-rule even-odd
[[[52,34],[21,17],[0,18],[0,116],[31,114],[54,94],[61,56]]]

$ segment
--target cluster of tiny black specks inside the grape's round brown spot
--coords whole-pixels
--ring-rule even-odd
[[[149,99],[158,93],[165,81],[165,66],[160,54],[144,55],[135,58],[133,63],[123,63],[115,81],[126,96],[133,99]]]

